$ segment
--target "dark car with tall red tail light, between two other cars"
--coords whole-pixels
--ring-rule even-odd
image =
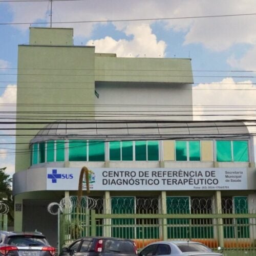
[[[59,256],[138,256],[134,241],[121,238],[83,237],[69,247],[63,247]]]

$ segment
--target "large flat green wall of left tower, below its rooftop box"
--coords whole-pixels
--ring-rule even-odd
[[[70,111],[92,112],[94,84],[94,47],[19,46],[17,121],[23,116],[24,122],[55,121],[70,119]],[[30,166],[29,141],[45,125],[17,124],[16,172]],[[25,127],[35,130],[18,130]]]

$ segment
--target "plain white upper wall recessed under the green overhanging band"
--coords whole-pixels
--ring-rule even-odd
[[[96,82],[95,90],[95,111],[111,119],[193,120],[191,84]]]

